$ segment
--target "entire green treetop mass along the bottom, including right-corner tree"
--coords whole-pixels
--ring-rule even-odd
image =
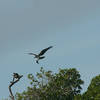
[[[59,69],[54,73],[41,67],[35,76],[28,74],[28,79],[30,86],[16,93],[16,100],[100,100],[100,75],[91,80],[83,94],[84,81],[75,68]]]

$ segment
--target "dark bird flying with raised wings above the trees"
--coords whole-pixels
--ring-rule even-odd
[[[39,60],[45,58],[44,53],[49,50],[50,48],[52,48],[53,46],[49,46],[48,48],[43,49],[39,54],[34,54],[34,53],[28,53],[29,55],[34,55],[37,60],[36,63],[39,64]]]

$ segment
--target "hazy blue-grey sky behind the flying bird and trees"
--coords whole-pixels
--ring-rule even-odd
[[[9,96],[13,72],[24,77],[12,87],[23,92],[27,74],[40,67],[76,68],[83,92],[100,74],[100,0],[0,0],[0,100]],[[54,46],[36,64],[26,53]]]

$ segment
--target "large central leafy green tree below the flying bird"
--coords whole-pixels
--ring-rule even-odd
[[[75,68],[59,69],[53,74],[41,67],[36,77],[29,74],[28,79],[31,87],[22,94],[17,93],[16,100],[73,100],[80,94],[84,83]]]

